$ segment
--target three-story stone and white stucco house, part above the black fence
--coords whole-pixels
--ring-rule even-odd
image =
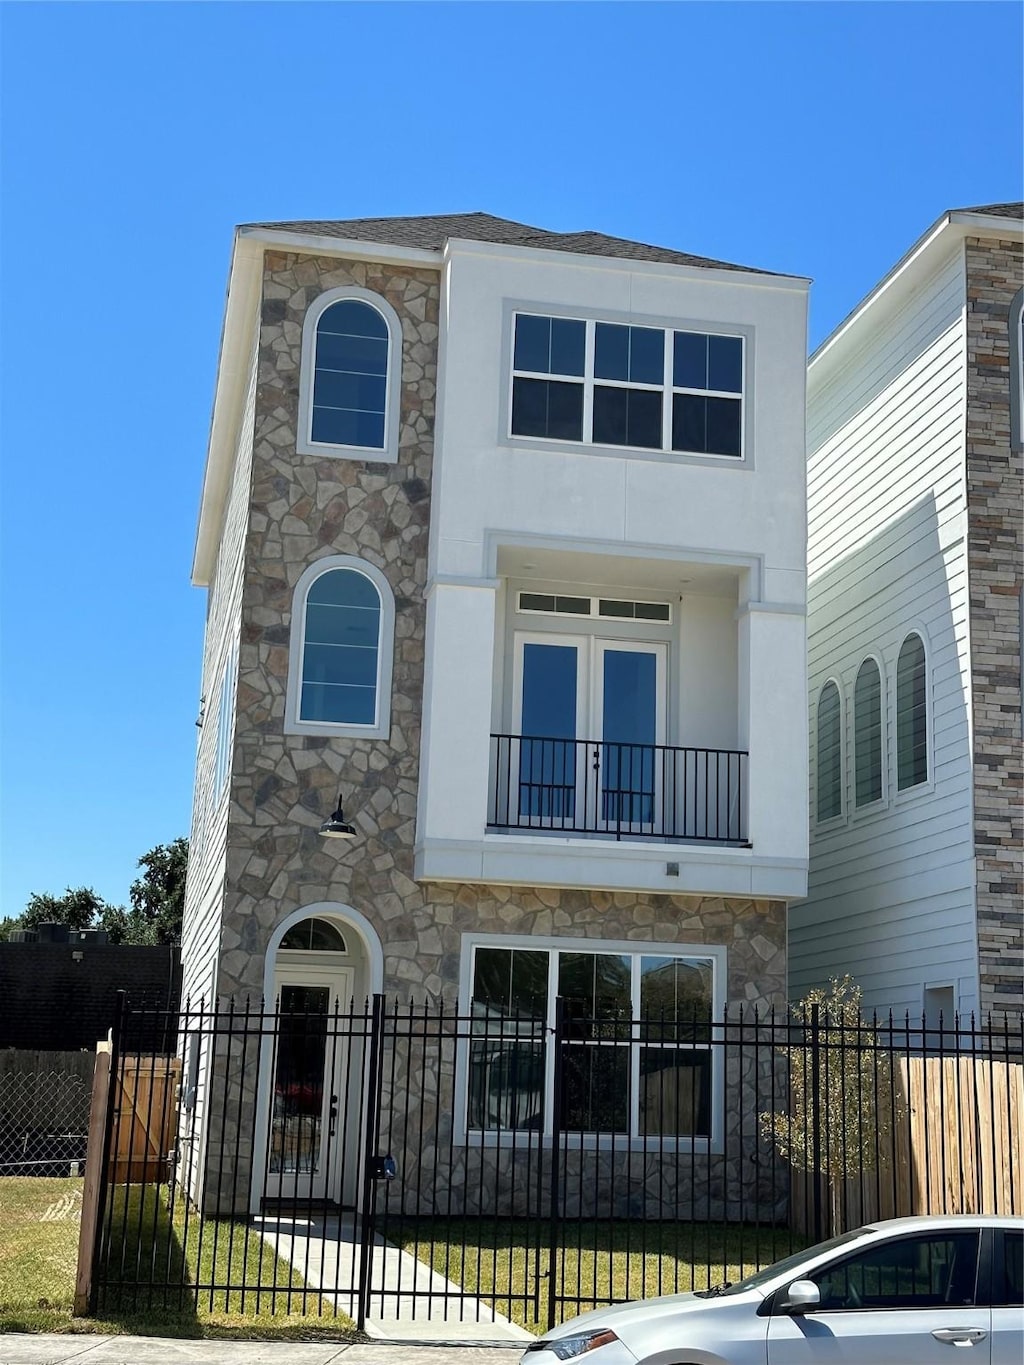
[[[186,992],[784,1001],[806,317],[487,214],[238,231]]]

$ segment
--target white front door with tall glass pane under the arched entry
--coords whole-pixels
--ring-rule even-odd
[[[351,966],[281,965],[266,1160],[266,1197],[343,1201],[350,1078]]]

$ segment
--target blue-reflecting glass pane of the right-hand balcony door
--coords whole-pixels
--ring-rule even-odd
[[[601,818],[609,824],[653,824],[657,655],[605,650],[602,698]]]

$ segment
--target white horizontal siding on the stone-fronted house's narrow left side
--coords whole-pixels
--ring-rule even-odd
[[[182,925],[182,991],[194,1003],[199,999],[212,1001],[217,990],[228,803],[231,800],[231,773],[224,790],[217,793],[214,789],[217,725],[221,714],[220,702],[221,688],[225,682],[225,665],[238,647],[242,621],[242,577],[253,472],[255,388],[257,348],[254,343],[231,493],[224,509],[224,528],[206,610],[202,663],[202,692],[206,699],[205,721],[199,732],[195,760],[193,837]],[[236,674],[235,687],[238,687]],[[233,706],[228,708],[228,714],[232,717],[233,710]],[[231,752],[232,745],[233,736],[228,752]]]

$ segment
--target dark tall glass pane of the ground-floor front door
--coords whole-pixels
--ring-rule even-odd
[[[281,986],[270,1133],[274,1174],[313,1175],[319,1168],[329,995],[326,986]]]

